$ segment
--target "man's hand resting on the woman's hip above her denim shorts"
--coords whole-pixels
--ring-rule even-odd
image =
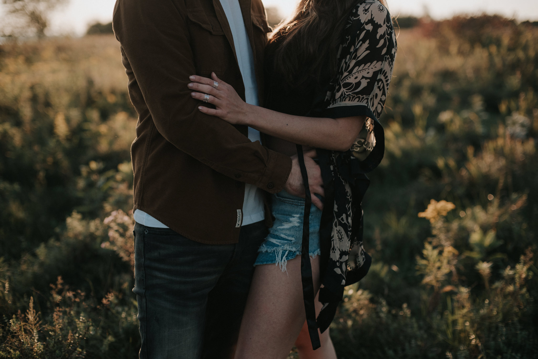
[[[304,152],[304,156],[306,172],[308,173],[308,185],[310,187],[310,194],[312,194],[312,203],[317,208],[323,209],[323,202],[315,195],[317,193],[322,197],[325,196],[320,166],[314,161],[314,158],[317,156],[316,150]],[[305,198],[305,185],[303,184],[299,159],[296,154],[292,156],[292,171],[289,173],[284,189],[289,194]]]

